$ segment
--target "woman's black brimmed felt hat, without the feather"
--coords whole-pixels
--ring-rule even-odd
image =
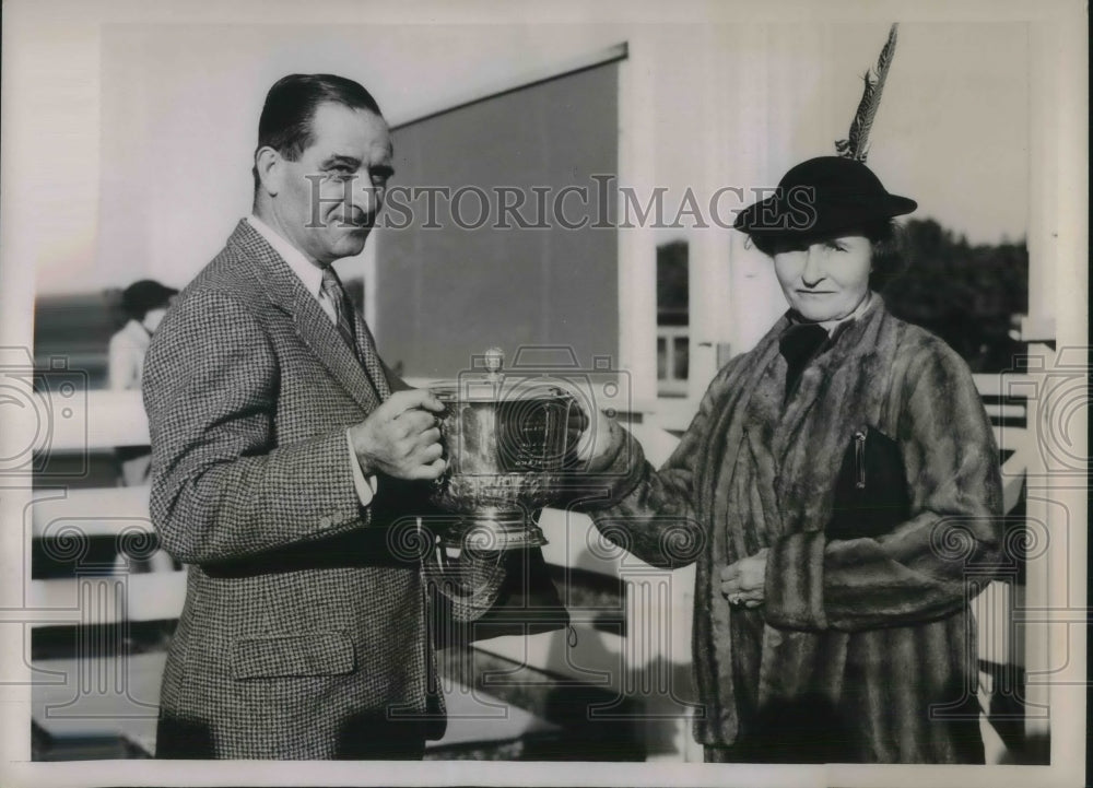
[[[774,195],[737,214],[732,226],[756,238],[822,236],[916,208],[914,200],[890,195],[861,162],[819,156],[792,167]]]

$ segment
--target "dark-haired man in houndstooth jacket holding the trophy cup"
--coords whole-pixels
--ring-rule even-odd
[[[330,268],[391,172],[364,87],[279,81],[254,215],[153,339],[152,521],[188,565],[160,757],[421,757],[443,732],[419,564],[388,539],[443,472],[443,405],[398,390]]]

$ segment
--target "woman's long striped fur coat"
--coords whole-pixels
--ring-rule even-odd
[[[968,602],[1001,541],[994,433],[963,360],[874,302],[788,399],[783,317],[718,373],[663,468],[636,445],[619,454],[614,503],[592,513],[645,561],[696,562],[695,737],[712,748],[983,760]],[[841,460],[867,428],[898,445],[909,516],[871,537],[828,537]],[[721,568],[763,549],[765,603],[731,607]],[[814,746],[824,738],[834,746]]]

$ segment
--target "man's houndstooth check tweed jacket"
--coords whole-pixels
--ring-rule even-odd
[[[155,332],[143,390],[152,522],[188,565],[161,737],[169,718],[240,758],[343,756],[391,719],[438,737],[419,562],[388,544],[420,487],[380,479],[361,507],[345,428],[379,398],[246,222]]]

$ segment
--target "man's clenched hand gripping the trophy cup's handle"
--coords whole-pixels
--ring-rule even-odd
[[[365,475],[436,479],[445,469],[439,423],[444,403],[426,389],[397,391],[367,419],[350,427],[350,442]]]

